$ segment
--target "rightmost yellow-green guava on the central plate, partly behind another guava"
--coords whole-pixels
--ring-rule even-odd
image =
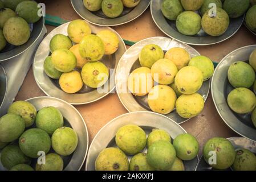
[[[204,81],[209,80],[214,73],[212,60],[206,56],[196,56],[189,61],[189,66],[197,67],[202,72]]]

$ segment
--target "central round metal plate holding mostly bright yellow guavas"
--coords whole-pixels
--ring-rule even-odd
[[[124,105],[124,107],[130,111],[151,111],[148,106],[148,97],[138,97],[133,96],[131,92],[128,91],[127,88],[127,78],[129,73],[131,73],[134,69],[141,67],[139,63],[139,54],[141,49],[148,44],[156,44],[160,46],[164,51],[168,51],[173,47],[182,47],[185,48],[186,51],[190,53],[191,57],[198,56],[200,53],[196,51],[196,49],[177,42],[176,40],[172,40],[170,38],[164,37],[155,37],[141,40],[140,42],[134,44],[130,47],[124,55],[121,57],[119,64],[116,69],[116,90],[119,96],[120,101]],[[125,90],[125,93],[123,92]],[[210,80],[205,81],[198,91],[201,96],[206,101],[210,90]],[[180,115],[176,113],[176,111],[172,111],[169,114],[166,114],[166,117],[173,119],[173,121],[177,123],[182,123],[188,121],[188,119],[181,118]]]

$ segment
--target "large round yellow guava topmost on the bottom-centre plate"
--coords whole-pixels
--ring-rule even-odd
[[[117,146],[128,155],[135,155],[142,151],[147,144],[145,131],[136,125],[120,127],[116,133]]]

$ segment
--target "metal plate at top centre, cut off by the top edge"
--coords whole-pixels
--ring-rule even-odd
[[[150,2],[151,0],[141,0],[139,5],[134,8],[124,7],[123,13],[117,18],[108,18],[101,10],[95,12],[87,10],[83,5],[83,0],[71,0],[74,10],[79,16],[88,22],[99,26],[117,26],[131,22],[147,10]]]

